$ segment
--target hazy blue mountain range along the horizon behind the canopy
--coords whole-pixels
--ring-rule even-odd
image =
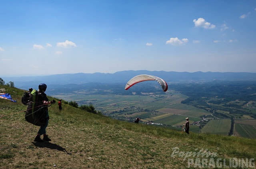
[[[127,83],[136,75],[154,75],[164,79],[167,83],[178,81],[254,81],[256,73],[234,72],[166,72],[166,71],[120,71],[116,73],[75,73],[59,74],[35,77],[2,77],[6,83],[13,81],[15,86],[27,89],[30,86],[38,86],[40,83],[47,85],[68,85],[84,83]]]

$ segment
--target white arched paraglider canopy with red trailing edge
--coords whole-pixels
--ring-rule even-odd
[[[152,76],[152,75],[138,75],[133,77],[132,79],[130,79],[130,81],[128,81],[128,83],[125,86],[125,90],[128,90],[131,86],[135,85],[136,83],[140,83],[143,81],[157,81],[164,92],[166,92],[168,90],[168,85],[166,83],[166,81],[164,81],[163,79],[156,77],[156,76]]]

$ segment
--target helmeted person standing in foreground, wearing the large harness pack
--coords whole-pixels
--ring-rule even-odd
[[[52,100],[51,102],[49,102],[46,94],[44,93],[46,90],[47,86],[44,83],[41,83],[38,86],[38,96],[39,96],[39,101],[42,102],[43,105],[48,105],[51,103],[55,103],[55,100]],[[34,141],[36,142],[41,142],[41,141],[52,141],[50,138],[48,138],[48,135],[46,135],[46,128],[48,126],[48,121],[49,121],[49,113],[48,113],[48,106],[45,107],[45,114],[44,114],[44,118],[46,119],[46,124],[44,126],[40,126],[40,129],[38,130],[38,133],[36,135],[36,138],[34,139]],[[40,136],[44,135],[44,138],[41,139]]]

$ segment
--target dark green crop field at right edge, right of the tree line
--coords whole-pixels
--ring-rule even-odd
[[[256,133],[256,126],[250,126],[246,124],[235,124],[235,129],[234,129],[235,136],[256,139],[255,133]]]

